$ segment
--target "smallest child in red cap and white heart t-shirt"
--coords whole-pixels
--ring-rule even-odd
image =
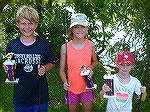
[[[144,101],[146,98],[146,87],[141,86],[140,81],[130,75],[130,71],[134,68],[135,60],[131,52],[123,51],[118,53],[116,58],[116,66],[119,70],[114,74],[114,94],[115,97],[108,98],[107,112],[131,112],[132,111],[132,97],[134,92]],[[104,84],[100,91],[100,97],[110,91],[108,85]]]

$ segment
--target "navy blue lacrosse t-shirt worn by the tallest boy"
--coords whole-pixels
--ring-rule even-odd
[[[16,61],[15,76],[19,78],[18,84],[14,85],[15,105],[35,105],[48,101],[48,84],[46,75],[38,75],[38,64],[55,64],[55,56],[52,47],[41,38],[25,46],[20,38],[14,39],[7,44],[6,52],[14,53]]]

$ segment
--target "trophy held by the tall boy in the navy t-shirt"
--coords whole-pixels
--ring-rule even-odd
[[[8,53],[3,58],[7,60],[3,63],[7,67],[8,78],[5,80],[6,83],[18,83],[19,79],[15,77],[14,72],[16,69],[16,62],[12,60],[13,53]]]

